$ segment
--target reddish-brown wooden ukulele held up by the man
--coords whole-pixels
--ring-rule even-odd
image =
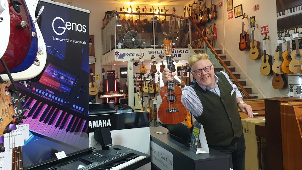
[[[163,44],[167,59],[167,68],[172,73],[172,41],[165,39]],[[174,85],[173,81],[168,81],[167,83],[167,86],[160,89],[162,103],[158,109],[158,117],[161,122],[166,124],[181,123],[187,116],[186,108],[181,101],[182,90],[179,86]]]

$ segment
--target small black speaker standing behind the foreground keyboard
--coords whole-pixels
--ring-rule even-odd
[[[94,139],[102,146],[102,150],[107,150],[112,146],[110,128],[101,128],[94,131]]]

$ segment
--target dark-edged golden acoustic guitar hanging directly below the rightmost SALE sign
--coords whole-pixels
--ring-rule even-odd
[[[271,55],[266,54],[266,44],[265,40],[267,39],[267,34],[264,36],[264,41],[263,41],[263,56],[261,57],[261,66],[260,66],[260,73],[263,76],[267,76],[271,73],[271,60],[272,57]]]

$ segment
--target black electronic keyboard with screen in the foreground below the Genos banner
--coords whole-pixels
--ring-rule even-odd
[[[58,160],[57,160],[58,161]],[[35,167],[35,169],[47,170],[119,170],[119,169],[137,169],[151,161],[147,154],[132,150],[130,148],[114,145],[108,150],[99,150],[81,156],[66,157],[60,160],[60,163],[52,167]],[[64,163],[62,163],[64,162]]]

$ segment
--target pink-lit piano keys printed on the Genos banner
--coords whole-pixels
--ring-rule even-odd
[[[66,110],[40,96],[26,97],[26,93],[20,93],[20,98],[25,96],[22,107],[31,109],[25,111],[24,116],[27,118],[22,124],[29,124],[32,132],[66,144],[87,142],[87,136],[84,135],[88,130],[87,116],[75,115],[77,112]]]

